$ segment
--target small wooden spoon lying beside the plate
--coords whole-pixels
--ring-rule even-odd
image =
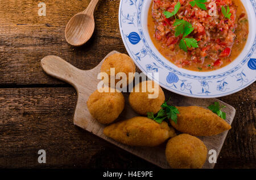
[[[90,1],[86,10],[79,12],[69,20],[65,28],[65,38],[69,44],[81,46],[92,37],[95,27],[93,12],[98,1]]]

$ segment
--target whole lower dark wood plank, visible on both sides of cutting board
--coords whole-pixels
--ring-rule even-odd
[[[238,98],[249,93],[254,94]],[[0,89],[0,95],[2,168],[155,167],[74,126],[77,95],[71,87]],[[250,88],[221,99],[234,102],[237,112],[216,168],[256,168],[255,99],[255,90]],[[39,149],[47,151],[45,165],[37,162]]]

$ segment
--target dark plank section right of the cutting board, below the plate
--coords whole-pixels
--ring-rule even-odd
[[[236,117],[216,168],[239,168],[238,162],[245,168],[256,168],[256,83],[219,99],[236,108]],[[239,156],[240,160],[235,160],[234,156]]]

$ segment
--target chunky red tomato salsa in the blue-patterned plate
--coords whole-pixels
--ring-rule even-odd
[[[199,6],[200,2],[205,2],[201,3],[205,4],[205,10]],[[214,15],[209,13],[213,7],[209,7],[210,3],[216,5]],[[176,14],[167,17],[166,12]],[[188,45],[186,51],[180,48],[184,36],[177,36],[175,32],[177,19],[192,25],[193,31],[187,37],[195,39],[197,45]],[[228,65],[242,52],[249,23],[240,0],[153,0],[148,12],[148,32],[156,49],[176,66],[192,71],[212,71]]]

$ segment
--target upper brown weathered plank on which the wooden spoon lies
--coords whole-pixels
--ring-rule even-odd
[[[40,67],[46,55],[58,55],[78,68],[95,67],[112,50],[125,53],[118,26],[118,0],[100,1],[94,12],[96,28],[80,48],[65,41],[68,20],[86,8],[87,1],[48,0],[46,16],[38,16],[32,0],[0,3],[0,84],[63,84]]]

